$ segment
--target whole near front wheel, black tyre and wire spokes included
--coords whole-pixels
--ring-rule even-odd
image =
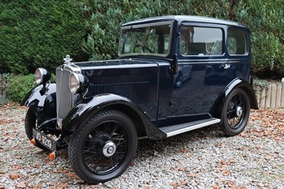
[[[87,183],[104,183],[129,167],[137,148],[133,121],[106,110],[95,114],[70,138],[68,156],[73,170]]]

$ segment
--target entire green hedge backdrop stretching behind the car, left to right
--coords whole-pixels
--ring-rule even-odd
[[[67,53],[75,61],[116,58],[122,23],[164,15],[245,23],[252,31],[253,75],[284,76],[283,0],[0,0],[0,73],[52,71]]]

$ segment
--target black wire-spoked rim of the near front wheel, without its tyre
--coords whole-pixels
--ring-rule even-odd
[[[126,156],[129,137],[117,121],[105,121],[90,132],[84,144],[83,159],[92,173],[113,171]]]

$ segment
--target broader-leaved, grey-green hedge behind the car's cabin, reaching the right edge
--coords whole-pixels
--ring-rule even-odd
[[[83,49],[90,60],[115,58],[122,23],[151,16],[197,15],[248,25],[252,31],[253,74],[261,78],[284,76],[283,0],[83,2],[89,32]]]

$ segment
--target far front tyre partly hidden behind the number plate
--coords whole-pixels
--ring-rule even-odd
[[[36,120],[35,114],[31,111],[31,109],[28,109],[25,119],[25,130],[26,130],[26,135],[28,136],[28,139],[30,141],[31,139],[33,139],[33,128],[37,126],[37,123],[38,121]],[[48,150],[48,148],[45,148],[45,146],[41,145],[39,142],[36,141],[35,141],[35,146],[45,151]]]

